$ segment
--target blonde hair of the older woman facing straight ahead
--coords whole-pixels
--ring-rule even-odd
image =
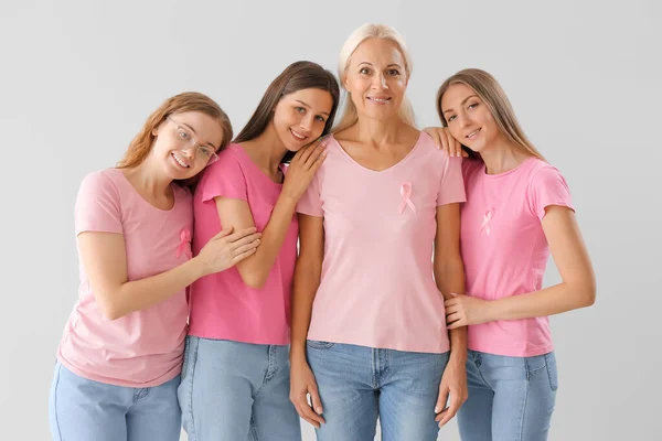
[[[374,24],[366,23],[356,29],[354,32],[350,34],[348,40],[342,45],[342,50],[340,51],[340,60],[338,64],[338,76],[340,78],[340,84],[344,87],[344,82],[348,76],[348,67],[350,66],[350,60],[356,47],[361,45],[367,39],[383,39],[391,40],[395,44],[397,44],[403,58],[405,58],[405,73],[407,75],[407,80],[412,76],[412,55],[407,50],[407,45],[405,44],[405,40],[394,28],[391,28],[387,24]],[[333,129],[334,132],[344,130],[356,123],[359,120],[359,115],[356,112],[356,106],[352,103],[352,98],[345,95],[344,106],[341,112],[340,120],[338,126]],[[416,126],[414,108],[412,107],[412,103],[407,97],[403,99],[401,104],[401,108],[398,111],[401,119],[410,125]]]

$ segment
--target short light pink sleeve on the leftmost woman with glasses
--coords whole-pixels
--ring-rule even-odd
[[[124,233],[119,190],[105,172],[83,179],[74,209],[76,236],[84,232]]]

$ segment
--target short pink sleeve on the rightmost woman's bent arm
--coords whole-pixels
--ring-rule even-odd
[[[543,168],[533,176],[528,190],[528,204],[531,211],[541,220],[545,217],[545,208],[549,205],[575,209],[568,184],[560,172],[552,165]]]

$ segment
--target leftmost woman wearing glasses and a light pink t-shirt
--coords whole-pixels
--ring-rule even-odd
[[[175,441],[186,335],[185,289],[255,254],[255,228],[226,228],[191,257],[193,205],[182,183],[232,138],[205,95],[166,100],[115,169],[88,174],[75,208],[79,300],[50,397],[53,439]]]

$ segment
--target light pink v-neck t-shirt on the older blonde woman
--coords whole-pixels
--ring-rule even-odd
[[[409,352],[449,349],[433,272],[437,206],[465,201],[461,162],[427,133],[372,171],[330,137],[297,211],[324,217],[324,257],[308,338]]]

